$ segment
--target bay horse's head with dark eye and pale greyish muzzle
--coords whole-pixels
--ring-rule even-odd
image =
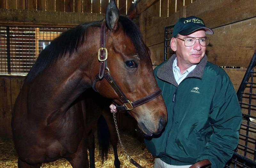
[[[138,122],[142,132],[148,136],[158,134],[167,121],[167,111],[160,92],[156,94],[159,88],[153,74],[149,49],[132,20],[119,15],[114,0],[108,4],[105,21],[105,35],[101,34],[100,38],[106,40],[106,50],[99,49],[99,61],[94,66],[94,72],[99,72],[104,66],[103,73],[96,75],[97,80],[91,79],[94,81],[92,86],[101,95],[125,107]],[[102,55],[106,60],[101,59]],[[108,76],[104,75],[104,78],[103,74]],[[148,95],[154,97],[148,98]],[[129,100],[128,103],[124,102],[124,97]],[[138,103],[135,108],[132,106],[132,102],[145,97],[150,100],[144,104]]]

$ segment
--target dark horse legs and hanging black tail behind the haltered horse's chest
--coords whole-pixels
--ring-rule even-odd
[[[81,96],[85,100],[86,119],[88,120],[86,122],[86,130],[88,132],[90,168],[95,168],[95,141],[92,132],[92,128],[95,127],[97,127],[97,139],[102,164],[104,159],[108,159],[108,150],[111,143],[115,157],[114,165],[116,168],[120,168],[120,160],[117,153],[118,137],[116,125],[112,113],[109,112],[111,100],[102,97],[92,89],[86,90]],[[98,103],[99,101],[101,103]]]

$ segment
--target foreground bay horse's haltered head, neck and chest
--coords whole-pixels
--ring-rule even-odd
[[[78,99],[88,88],[129,110],[148,136],[167,122],[148,48],[132,20],[119,16],[114,0],[104,20],[62,33],[29,71],[12,114],[19,168],[39,168],[60,157],[73,168],[89,166],[88,119]]]

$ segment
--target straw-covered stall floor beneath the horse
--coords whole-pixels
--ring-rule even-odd
[[[144,168],[152,168],[154,165],[154,158],[145,148],[143,143],[128,134],[121,134],[121,140],[127,153],[133,157]],[[95,140],[95,167],[113,168],[114,167],[114,154],[113,149],[110,148],[108,160],[101,164],[99,157],[98,142]],[[121,167],[135,168],[125,156],[120,143],[118,143],[118,157],[121,162]],[[6,140],[0,137],[0,167],[1,168],[16,168],[17,167],[17,154],[11,140]],[[41,168],[72,168],[68,161],[59,159],[55,162],[43,164]]]

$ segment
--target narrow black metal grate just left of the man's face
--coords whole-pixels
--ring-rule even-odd
[[[164,27],[164,61],[169,60],[172,54],[174,54],[174,51],[171,49],[173,27],[174,25]]]

